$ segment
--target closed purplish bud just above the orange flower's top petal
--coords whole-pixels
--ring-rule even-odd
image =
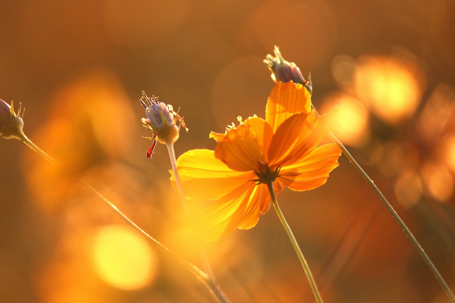
[[[263,62],[267,65],[268,69],[272,72],[273,81],[282,81],[284,83],[292,80],[293,83],[299,83],[308,89],[310,95],[313,93],[313,85],[311,83],[311,75],[308,75],[308,80],[305,80],[300,72],[300,69],[294,62],[284,60],[278,46],[275,45],[273,50],[275,56],[267,55]]]

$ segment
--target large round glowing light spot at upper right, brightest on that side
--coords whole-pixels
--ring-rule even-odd
[[[355,90],[359,99],[389,124],[396,124],[414,114],[421,96],[415,66],[384,56],[359,59]]]

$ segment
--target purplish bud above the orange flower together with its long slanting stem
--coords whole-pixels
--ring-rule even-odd
[[[274,50],[275,56],[272,55],[267,55],[266,59],[263,60],[263,62],[268,66],[268,69],[272,72],[272,79],[273,81],[283,81],[283,82],[288,82],[288,81],[293,81],[294,83],[300,83],[303,86],[305,86],[308,89],[308,92],[310,95],[313,94],[313,84],[311,81],[311,75],[308,77],[308,80],[303,79],[302,73],[300,72],[300,69],[295,65],[293,62],[288,62],[284,60],[283,56],[281,55],[278,47],[275,45],[275,50]],[[314,112],[316,115],[318,115],[318,111],[314,108],[313,103],[311,104],[311,108],[314,109]],[[351,162],[352,165],[354,165],[355,169],[359,172],[359,174],[364,177],[364,179],[369,183],[371,188],[374,190],[374,192],[379,196],[379,199],[381,199],[382,203],[384,203],[385,207],[389,210],[390,214],[394,217],[395,221],[399,224],[399,226],[403,229],[404,233],[406,233],[406,236],[411,240],[412,244],[414,245],[415,249],[419,252],[420,256],[424,259],[425,263],[428,265],[430,268],[431,272],[435,275],[436,279],[438,282],[441,284],[442,288],[444,288],[445,293],[447,296],[450,298],[450,301],[452,303],[455,303],[455,296],[450,290],[449,286],[445,282],[444,278],[442,278],[441,274],[439,271],[436,269],[435,264],[431,262],[430,258],[428,255],[425,253],[424,249],[420,246],[420,243],[417,241],[417,239],[414,237],[414,235],[411,233],[409,228],[404,224],[403,220],[399,217],[397,212],[394,210],[392,205],[385,199],[384,195],[381,193],[381,191],[378,189],[378,187],[374,184],[373,180],[364,172],[364,170],[360,167],[360,165],[355,161],[355,159],[352,157],[351,154],[349,154],[349,151],[344,147],[344,145],[332,134],[329,132],[329,138],[336,143],[339,148],[343,151],[343,154],[346,156],[346,158],[349,159],[349,162]]]

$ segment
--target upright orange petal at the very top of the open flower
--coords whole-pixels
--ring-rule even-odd
[[[308,114],[311,99],[308,90],[302,84],[277,82],[267,100],[265,120],[272,126],[273,132],[290,116],[297,113]]]

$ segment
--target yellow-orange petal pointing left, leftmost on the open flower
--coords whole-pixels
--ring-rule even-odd
[[[242,173],[229,169],[221,160],[215,158],[213,150],[193,149],[177,159],[177,170],[182,183],[183,193],[188,199],[219,199],[223,195],[255,179],[253,173]],[[175,176],[171,183],[174,188]]]

